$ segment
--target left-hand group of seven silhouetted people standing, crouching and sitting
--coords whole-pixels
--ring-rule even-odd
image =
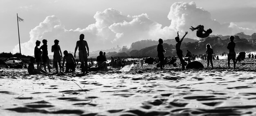
[[[52,46],[52,52],[54,53],[53,55],[53,62],[54,66],[56,68],[56,73],[58,73],[58,66],[64,72],[64,65],[66,66],[65,72],[71,72],[75,71],[76,67],[76,50],[79,50],[79,60],[81,62],[81,69],[83,74],[88,73],[88,56],[89,56],[89,47],[88,44],[84,39],[84,35],[81,34],[79,37],[79,41],[76,42],[76,47],[75,47],[75,53],[74,56],[71,53],[68,53],[67,50],[63,52],[64,57],[62,56],[61,52],[61,47],[58,45],[59,41],[56,39],[54,40],[54,45]],[[34,56],[31,57],[30,63],[28,66],[28,72],[29,74],[49,74],[51,72],[50,70],[50,65],[49,65],[49,57],[48,57],[48,50],[47,50],[47,40],[43,39],[43,45],[40,46],[40,41],[36,41],[36,46],[34,49]],[[38,48],[40,46],[40,48]],[[42,50],[42,51],[41,51]],[[106,56],[103,55],[103,52],[101,51],[99,53],[100,55],[97,57],[96,61],[98,62],[98,67],[100,69],[103,69],[105,71],[108,71],[107,65],[106,65]],[[106,54],[106,53],[105,53]],[[61,59],[63,58],[63,63],[61,66]],[[65,64],[66,61],[66,64]],[[36,63],[37,67],[36,69],[34,68],[34,63]],[[44,70],[42,70],[42,66],[44,67]],[[48,68],[48,72],[46,70],[46,66]]]

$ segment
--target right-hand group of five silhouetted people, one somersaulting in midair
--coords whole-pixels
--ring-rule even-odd
[[[197,30],[197,37],[200,37],[200,38],[205,38],[205,37],[208,37],[210,35],[210,33],[212,33],[212,30],[211,29],[208,29],[207,31],[204,30],[204,26],[202,25],[198,25],[197,27],[193,27],[191,26],[191,31],[194,31],[194,30]],[[179,36],[179,31],[177,32],[177,37],[175,37],[175,40],[176,40],[176,53],[177,53],[177,56],[178,58],[180,59],[180,63],[182,65],[182,69],[185,68],[185,65],[186,65],[186,62],[184,61],[183,59],[183,54],[182,54],[182,50],[180,49],[180,46],[181,46],[181,43],[184,39],[184,37],[188,34],[188,32],[186,31],[185,32],[185,35],[182,37],[182,39],[180,39],[180,36]],[[227,45],[227,49],[229,50],[229,53],[228,53],[228,68],[230,68],[230,60],[232,59],[233,60],[233,63],[234,63],[234,69],[236,68],[236,52],[235,52],[235,46],[236,46],[236,43],[234,43],[234,36],[230,36],[229,39],[230,39],[230,42],[228,43]],[[160,68],[163,69],[163,64],[164,64],[164,53],[165,53],[165,50],[163,48],[163,40],[160,38],[159,40],[159,44],[157,45],[157,57],[160,61]],[[211,63],[211,67],[213,68],[213,63],[212,63],[212,59],[213,59],[213,49],[211,47],[210,44],[207,44],[206,45],[206,51],[205,53],[207,54],[207,68],[209,68],[209,63]],[[189,51],[187,51],[187,55],[191,55],[191,53]]]

